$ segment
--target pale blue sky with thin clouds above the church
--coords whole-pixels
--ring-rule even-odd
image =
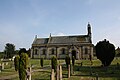
[[[39,38],[87,34],[120,46],[120,0],[0,0],[0,51],[6,43],[31,48]]]

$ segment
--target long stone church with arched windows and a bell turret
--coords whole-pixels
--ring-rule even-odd
[[[75,59],[93,58],[91,25],[87,25],[86,35],[72,36],[50,36],[48,38],[35,37],[31,47],[32,58],[50,59],[56,56],[57,59],[64,59],[66,55]]]

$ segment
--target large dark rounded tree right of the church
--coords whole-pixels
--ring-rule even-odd
[[[115,57],[115,47],[109,41],[99,41],[96,46],[96,56],[102,62],[103,66],[109,66]]]

